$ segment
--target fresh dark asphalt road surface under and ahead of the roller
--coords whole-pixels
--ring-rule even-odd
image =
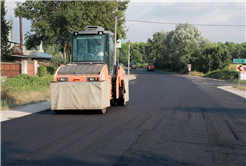
[[[51,110],[0,123],[7,165],[246,165],[246,99],[231,83],[131,70],[106,114]]]

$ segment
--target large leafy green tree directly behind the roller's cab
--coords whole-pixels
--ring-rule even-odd
[[[130,0],[26,0],[17,3],[16,16],[31,20],[31,31],[36,34],[27,34],[27,43],[35,41],[44,46],[60,44],[60,50],[70,54],[73,31],[82,31],[89,25],[102,26],[114,32],[114,18],[124,17],[127,4]],[[118,21],[117,38],[126,37],[125,19]]]

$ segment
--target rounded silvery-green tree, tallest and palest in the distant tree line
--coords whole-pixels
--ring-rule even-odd
[[[162,50],[173,70],[187,70],[187,65],[194,63],[207,45],[214,44],[204,39],[198,28],[186,23],[167,33]]]

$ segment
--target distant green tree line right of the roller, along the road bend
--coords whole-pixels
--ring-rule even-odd
[[[146,43],[131,43],[130,55],[138,67],[153,62],[158,69],[186,73],[191,64],[193,71],[207,73],[230,65],[234,58],[246,59],[246,42],[215,43],[186,23],[176,25],[172,31],[156,32]],[[120,63],[127,65],[128,43],[122,44],[119,56]]]

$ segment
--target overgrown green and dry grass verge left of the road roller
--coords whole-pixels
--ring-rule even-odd
[[[0,85],[0,110],[47,101],[53,76],[32,77],[27,74],[8,78]]]

